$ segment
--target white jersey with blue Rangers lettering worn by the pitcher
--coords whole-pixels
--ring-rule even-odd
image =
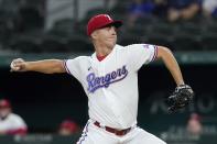
[[[67,73],[85,89],[91,120],[116,129],[137,124],[138,70],[156,57],[156,49],[148,44],[116,45],[101,62],[96,53],[65,60]]]

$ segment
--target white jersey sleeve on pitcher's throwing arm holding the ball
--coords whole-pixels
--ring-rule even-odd
[[[79,67],[82,57],[76,57],[74,59],[65,59],[64,67],[69,75],[73,75],[76,79],[80,81],[82,69]]]

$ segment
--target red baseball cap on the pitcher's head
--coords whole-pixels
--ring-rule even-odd
[[[95,15],[89,20],[87,24],[87,35],[90,36],[90,34],[95,30],[105,27],[110,24],[116,27],[120,27],[122,25],[122,21],[115,21],[108,14]]]

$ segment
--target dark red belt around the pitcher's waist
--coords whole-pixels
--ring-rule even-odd
[[[113,133],[118,136],[123,136],[126,135],[128,132],[130,132],[131,128],[128,128],[128,129],[124,129],[124,130],[117,130],[117,129],[113,129],[113,128],[109,128],[109,126],[101,126],[99,122],[94,122],[94,124],[98,128],[102,128],[105,129],[107,132],[110,132],[110,133]]]

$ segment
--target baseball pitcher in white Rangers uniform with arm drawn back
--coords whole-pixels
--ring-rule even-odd
[[[165,144],[137,125],[138,70],[153,60],[163,60],[177,85],[169,97],[170,111],[193,99],[194,92],[185,85],[172,52],[150,44],[118,45],[121,25],[108,14],[89,20],[87,35],[95,47],[91,56],[36,62],[18,58],[11,63],[12,71],[68,73],[82,84],[88,97],[89,120],[77,144]]]

